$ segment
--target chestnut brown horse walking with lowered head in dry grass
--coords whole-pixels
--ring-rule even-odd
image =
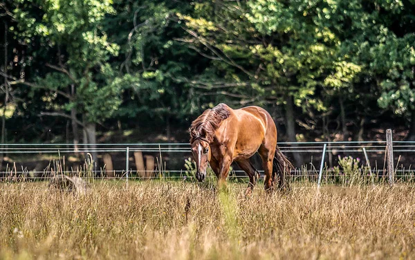
[[[247,193],[259,178],[249,158],[257,151],[265,171],[265,189],[275,187],[278,174],[279,188],[286,188],[285,174],[293,165],[277,147],[277,128],[270,114],[259,106],[231,109],[218,104],[207,109],[192,122],[190,144],[196,160],[196,178],[203,181],[208,163],[221,185],[228,177],[229,167],[236,162],[249,176]]]

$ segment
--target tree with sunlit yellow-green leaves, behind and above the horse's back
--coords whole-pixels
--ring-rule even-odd
[[[334,7],[325,1],[216,1],[195,8],[203,10],[199,17],[178,15],[190,35],[185,41],[213,60],[216,75],[241,84],[229,91],[243,104],[283,104],[291,142],[297,108],[325,111],[317,90],[333,78],[333,67],[353,65],[338,59],[340,41],[327,26]],[[295,159],[302,164],[301,156]]]

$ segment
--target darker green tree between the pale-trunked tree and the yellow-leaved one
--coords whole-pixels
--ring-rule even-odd
[[[124,121],[138,117],[139,124],[161,122],[169,139],[171,124],[189,124],[190,115],[212,100],[198,95],[203,86],[189,80],[209,61],[175,40],[185,35],[176,12],[190,12],[192,6],[187,1],[118,1],[114,6],[118,15],[110,17],[107,32],[121,47],[113,62],[119,64],[116,82],[125,89],[117,115]]]

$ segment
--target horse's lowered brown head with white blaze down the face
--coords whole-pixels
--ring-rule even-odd
[[[210,161],[210,145],[207,140],[198,138],[192,142],[192,154],[196,161],[196,179],[205,180],[206,169]]]

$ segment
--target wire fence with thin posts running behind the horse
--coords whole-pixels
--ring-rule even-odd
[[[288,177],[299,175],[318,176],[319,183],[322,177],[333,175],[330,166],[335,165],[337,156],[353,156],[362,158],[361,164],[367,165],[377,176],[385,174],[386,168],[386,141],[364,142],[279,142],[279,148],[288,157],[293,154],[302,154],[306,163],[288,174]],[[1,154],[5,159],[0,171],[0,178],[26,176],[30,179],[49,178],[49,171],[75,171],[76,165],[85,165],[86,154],[97,154],[98,160],[92,165],[93,175],[105,177],[105,167],[102,155],[113,156],[115,178],[142,178],[134,168],[133,152],[152,154],[157,159],[156,176],[163,178],[186,178],[185,159],[192,156],[188,143],[123,143],[123,144],[3,144],[0,145]],[[77,149],[75,149],[77,147]],[[403,177],[412,174],[411,164],[415,154],[415,142],[394,141],[394,161],[396,163],[395,176]],[[71,158],[71,156],[73,158]],[[75,158],[75,159],[74,159]],[[42,169],[42,162],[48,162]],[[65,165],[66,164],[66,165]],[[40,165],[40,166],[39,166]],[[317,165],[317,167],[315,166]],[[35,166],[35,167],[34,167]],[[39,169],[40,167],[40,169]],[[261,167],[258,167],[261,169]],[[326,169],[323,171],[323,169]],[[259,171],[263,174],[263,171]],[[234,170],[234,178],[246,177],[239,169]]]

